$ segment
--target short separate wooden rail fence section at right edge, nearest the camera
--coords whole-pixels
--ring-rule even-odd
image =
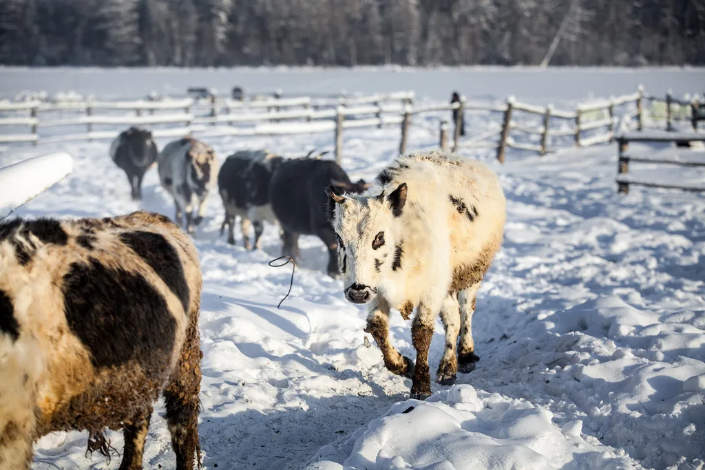
[[[705,182],[683,183],[664,180],[645,180],[629,174],[630,163],[661,163],[666,165],[705,167],[705,152],[681,151],[677,148],[649,153],[633,151],[629,148],[632,142],[705,142],[705,133],[699,132],[624,132],[617,138],[618,169],[617,190],[626,194],[630,185],[661,187],[683,191],[705,191]]]

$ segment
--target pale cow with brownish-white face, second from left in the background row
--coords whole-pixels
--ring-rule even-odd
[[[181,214],[185,212],[186,230],[193,233],[194,226],[203,220],[206,199],[218,174],[215,151],[200,140],[184,137],[161,150],[157,165],[161,185],[174,198],[176,223],[183,223]],[[195,218],[192,215],[194,196],[198,202]]]

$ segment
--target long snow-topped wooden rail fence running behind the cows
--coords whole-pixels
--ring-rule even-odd
[[[673,102],[668,98],[666,101]],[[461,99],[449,104],[431,106],[413,106],[412,92],[391,94],[372,94],[358,97],[338,97],[338,99],[313,99],[312,97],[266,98],[252,101],[238,99],[218,99],[216,95],[197,99],[168,99],[166,101],[81,101],[64,104],[44,104],[40,101],[27,103],[0,102],[0,112],[30,111],[30,117],[0,118],[0,128],[4,125],[25,125],[32,129],[31,134],[0,135],[0,142],[61,142],[65,140],[113,139],[118,132],[95,131],[94,125],[171,125],[180,123],[178,128],[154,129],[155,137],[178,137],[178,135],[199,134],[204,137],[226,135],[288,135],[294,133],[335,132],[336,159],[342,154],[342,136],[346,128],[381,128],[384,125],[400,124],[401,136],[399,151],[407,148],[407,140],[414,116],[438,111],[454,113],[453,135],[449,134],[446,120],[441,120],[439,130],[439,147],[446,149],[452,140],[453,151],[460,148],[485,147],[496,149],[498,161],[505,160],[506,149],[524,149],[546,154],[549,137],[573,137],[575,145],[585,147],[603,142],[612,142],[615,135],[615,108],[634,104],[635,111],[624,109],[620,115],[637,120],[637,128],[644,128],[644,100],[652,99],[644,95],[642,87],[633,94],[611,97],[599,101],[579,104],[575,110],[555,109],[548,106],[521,103],[509,97],[505,104],[473,103]],[[391,101],[391,102],[390,102]],[[694,101],[695,102],[695,101]],[[333,106],[333,107],[326,107]],[[695,105],[694,105],[695,106]],[[44,111],[85,110],[86,116],[71,118],[42,119]],[[134,110],[137,116],[97,115],[97,109]],[[154,113],[154,111],[183,110],[180,113]],[[149,111],[149,116],[142,116],[142,111]],[[225,113],[223,113],[225,111]],[[468,139],[460,138],[462,116],[467,111],[486,111],[501,113],[503,118],[497,126],[490,126],[489,132],[474,135]],[[513,119],[516,113],[527,113],[539,118],[541,125],[527,125]],[[555,128],[551,122],[555,119],[573,121],[570,128]],[[293,121],[295,120],[295,121]],[[697,122],[697,121],[694,121]],[[247,125],[249,124],[249,126]],[[492,124],[492,123],[491,123]],[[44,137],[39,135],[40,128],[69,125],[86,125],[84,134]],[[588,131],[604,132],[586,135]],[[534,136],[533,142],[525,142],[513,135]],[[499,136],[498,141],[495,139]]]

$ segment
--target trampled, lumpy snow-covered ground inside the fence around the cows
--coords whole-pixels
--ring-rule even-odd
[[[68,85],[67,85],[68,86]],[[472,122],[470,123],[472,125]],[[417,127],[414,146],[436,128]],[[166,142],[160,141],[160,148]],[[266,147],[286,156],[331,146],[330,135],[209,141],[221,158]],[[372,178],[393,158],[398,128],[345,133],[343,166]],[[68,151],[74,170],[18,210],[25,216],[106,216],[138,208],[173,215],[157,172],[129,197],[109,142],[14,147],[0,166]],[[303,237],[290,267],[267,227],[247,252],[219,236],[217,194],[195,243],[204,275],[200,436],[207,469],[641,469],[705,467],[705,197],[630,188],[617,194],[615,144],[546,157],[510,151],[491,164],[508,197],[503,249],[479,294],[477,370],[452,388],[407,400],[410,381],[366,346],[364,307],[324,274],[327,253]],[[468,154],[490,159],[491,152]],[[643,168],[643,170],[639,170]],[[663,175],[649,165],[630,172]],[[670,178],[703,180],[697,168]],[[393,342],[414,357],[409,322]],[[443,351],[440,322],[431,368]],[[174,466],[157,407],[146,468]],[[52,433],[33,469],[116,469],[84,457],[86,433]],[[122,449],[120,433],[111,444]]]

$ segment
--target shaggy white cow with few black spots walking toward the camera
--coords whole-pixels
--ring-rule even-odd
[[[365,331],[387,369],[412,376],[411,395],[423,399],[431,394],[428,353],[439,312],[446,350],[438,381],[453,383],[459,365],[464,373],[474,369],[472,314],[503,238],[505,197],[484,164],[436,151],[400,157],[377,181],[381,188],[366,194],[329,189],[344,293],[369,303]],[[416,309],[416,365],[389,342],[390,309],[405,319]]]

